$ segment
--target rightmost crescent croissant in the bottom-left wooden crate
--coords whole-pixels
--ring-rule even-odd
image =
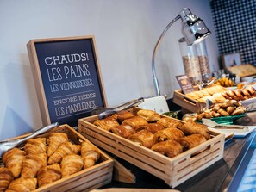
[[[84,169],[86,169],[96,164],[100,158],[100,152],[96,146],[84,141],[81,143],[81,157],[84,158]]]

